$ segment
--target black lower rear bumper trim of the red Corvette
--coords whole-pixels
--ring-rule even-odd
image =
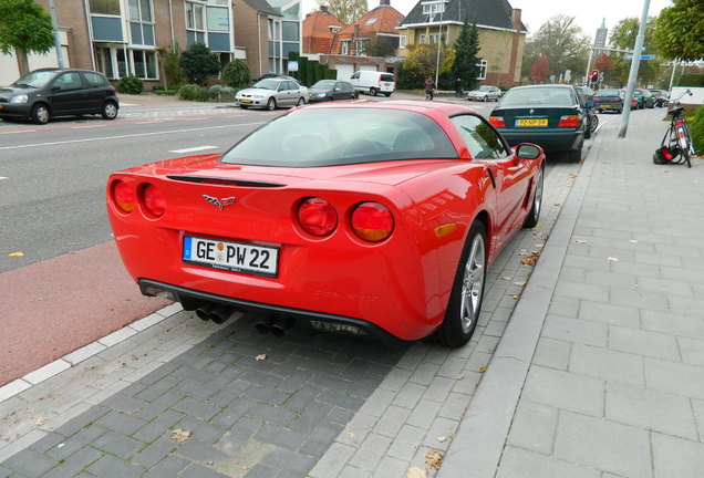
[[[315,331],[332,332],[362,339],[372,339],[387,346],[400,346],[407,343],[406,341],[390,334],[382,328],[374,325],[371,322],[366,322],[355,318],[328,314],[289,306],[280,306],[261,302],[252,302],[231,297],[197,291],[194,289],[187,289],[164,282],[153,281],[149,279],[141,279],[138,283],[139,290],[144,295],[154,297],[156,295],[156,290],[169,292],[172,294],[172,299],[180,302],[184,305],[185,310],[194,310],[204,303],[218,303],[231,306],[235,310],[240,310],[242,312],[265,312],[291,316],[296,319],[296,322],[299,326],[304,326]]]

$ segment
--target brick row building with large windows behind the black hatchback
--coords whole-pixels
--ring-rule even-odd
[[[49,11],[49,0],[35,1]],[[252,75],[282,71],[288,52],[300,51],[300,1],[54,0],[54,4],[65,66],[102,71],[111,80],[134,74],[149,91],[164,84],[158,52],[172,44],[183,50],[204,43],[221,64],[246,59]],[[259,34],[252,35],[252,29]],[[58,65],[55,52],[29,60],[30,69]],[[3,73],[4,83],[19,77],[13,55],[0,55],[0,71],[12,74],[7,80]]]

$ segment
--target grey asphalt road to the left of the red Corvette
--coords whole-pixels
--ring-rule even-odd
[[[116,170],[227,149],[280,114],[56,121],[0,128],[0,272],[111,239],[105,180]],[[22,252],[22,257],[10,257]]]

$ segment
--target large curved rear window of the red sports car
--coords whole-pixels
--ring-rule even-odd
[[[311,167],[456,157],[457,152],[441,126],[420,113],[302,108],[253,131],[220,160]]]

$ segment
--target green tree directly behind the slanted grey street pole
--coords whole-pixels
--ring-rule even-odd
[[[638,37],[640,21],[636,18],[627,18],[621,20],[611,31],[609,42],[612,46],[621,50],[633,50],[635,38]],[[645,24],[645,38],[643,41],[643,53],[658,54],[659,45],[654,37],[655,19],[649,18]],[[631,72],[631,60],[614,60],[614,80],[621,85],[625,85],[629,81]],[[641,61],[638,69],[638,80],[641,84],[656,83],[663,74],[663,67],[658,60]]]

